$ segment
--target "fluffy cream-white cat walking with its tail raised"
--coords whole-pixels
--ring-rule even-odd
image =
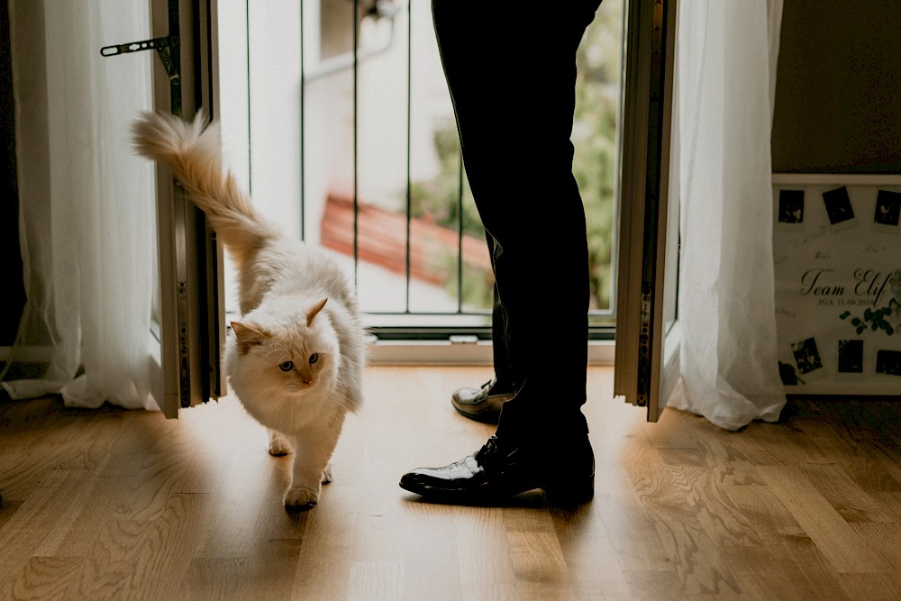
[[[223,170],[217,124],[144,113],[135,148],[168,164],[207,215],[239,274],[241,319],[232,322],[225,369],[232,391],[269,431],[269,452],[294,451],[287,507],[310,507],[344,418],[360,404],[365,331],[348,278],[327,251],[265,223]]]

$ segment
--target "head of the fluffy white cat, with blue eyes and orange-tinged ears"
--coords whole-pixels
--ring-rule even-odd
[[[252,387],[254,396],[296,396],[331,387],[338,341],[328,315],[320,313],[323,305],[325,300],[260,307],[232,322],[238,351],[232,374]]]

